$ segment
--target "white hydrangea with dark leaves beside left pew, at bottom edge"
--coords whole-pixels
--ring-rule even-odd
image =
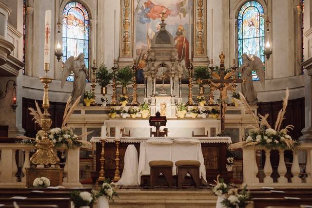
[[[74,202],[75,207],[78,208],[90,208],[93,204],[95,196],[88,191],[72,191],[70,193],[70,198]]]

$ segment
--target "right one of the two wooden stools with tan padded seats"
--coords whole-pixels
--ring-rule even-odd
[[[200,162],[197,160],[176,161],[177,187],[179,189],[182,188],[182,184],[183,184],[186,174],[190,173],[195,183],[195,187],[198,189],[200,186],[199,167],[200,167]]]

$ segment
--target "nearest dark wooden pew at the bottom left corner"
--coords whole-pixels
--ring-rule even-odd
[[[70,208],[70,198],[27,198],[10,199],[0,198],[0,204],[12,205],[16,201],[19,205],[57,205],[59,208]]]

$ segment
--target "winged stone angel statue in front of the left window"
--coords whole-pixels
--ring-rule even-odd
[[[62,70],[62,88],[66,82],[67,77],[74,73],[74,83],[73,83],[73,92],[72,92],[72,103],[77,100],[80,95],[83,95],[86,89],[86,78],[87,78],[87,68],[84,63],[84,54],[79,54],[77,58],[71,56],[67,58],[64,63]],[[80,103],[83,100],[81,96]]]

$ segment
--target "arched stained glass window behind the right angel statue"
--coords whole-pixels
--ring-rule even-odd
[[[257,1],[247,1],[242,5],[237,17],[238,66],[241,66],[242,55],[260,57],[264,63],[264,10]],[[264,65],[264,64],[263,64]],[[259,80],[253,72],[253,80]]]

